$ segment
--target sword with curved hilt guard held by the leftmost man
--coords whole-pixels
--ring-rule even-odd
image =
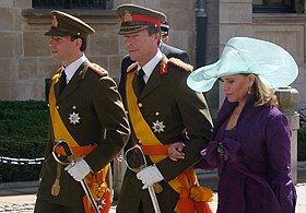
[[[55,147],[56,147],[56,146],[59,146],[59,145],[62,146],[62,149],[63,149],[63,151],[64,151],[64,153],[66,153],[68,159],[70,159],[70,163],[69,163],[69,164],[72,164],[72,165],[75,164],[74,159],[72,158],[72,152],[71,152],[69,145],[67,144],[67,142],[66,142],[64,140],[59,140],[59,142],[54,146],[52,155],[54,155],[55,159],[56,159],[57,162],[59,162],[60,164],[68,165],[68,163],[61,162],[61,161],[56,156]],[[83,188],[83,190],[84,190],[86,197],[89,198],[89,200],[90,200],[90,202],[91,202],[91,204],[92,204],[94,211],[95,211],[96,213],[99,213],[99,209],[102,209],[102,205],[97,205],[97,203],[96,203],[96,201],[94,200],[94,197],[93,197],[93,194],[92,194],[92,192],[91,192],[91,190],[90,190],[90,187],[89,187],[87,182],[85,181],[85,179],[82,179],[82,180],[81,180],[81,186],[82,186],[82,188]]]

